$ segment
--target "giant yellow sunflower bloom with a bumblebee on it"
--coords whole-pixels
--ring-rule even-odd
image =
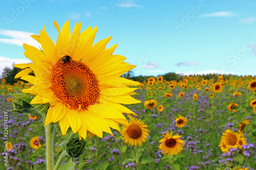
[[[105,49],[112,37],[92,46],[97,27],[80,33],[81,23],[76,23],[71,35],[69,21],[61,31],[55,21],[54,26],[59,33],[56,45],[44,27],[40,36],[32,36],[42,52],[24,44],[24,54],[33,63],[15,65],[25,68],[15,78],[33,84],[23,89],[36,95],[31,104],[50,104],[45,126],[59,122],[63,135],[71,127],[85,139],[87,131],[102,137],[103,131],[112,134],[110,127],[120,131],[118,124],[129,125],[122,113],[136,114],[121,104],[140,103],[131,97],[137,88],[128,87],[140,83],[120,76],[136,66],[123,62],[123,56],[112,55],[117,44]],[[35,76],[28,75],[32,71]]]

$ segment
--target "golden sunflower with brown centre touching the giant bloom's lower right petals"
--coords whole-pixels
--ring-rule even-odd
[[[121,131],[122,140],[129,145],[135,145],[135,147],[141,145],[141,143],[145,142],[147,136],[150,136],[146,127],[147,125],[144,125],[140,119],[130,120],[129,126],[125,126]]]

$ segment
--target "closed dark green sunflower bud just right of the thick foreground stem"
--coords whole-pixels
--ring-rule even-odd
[[[79,138],[71,139],[67,144],[67,152],[70,157],[78,158],[86,150],[86,141]]]

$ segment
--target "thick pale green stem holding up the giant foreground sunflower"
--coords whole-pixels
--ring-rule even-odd
[[[55,125],[53,123],[45,126],[46,130],[46,166],[47,170],[54,170],[53,163],[53,138]]]

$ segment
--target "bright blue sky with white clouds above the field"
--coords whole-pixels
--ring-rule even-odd
[[[256,75],[255,1],[1,1],[0,71],[29,62],[23,43],[38,47],[30,35],[46,26],[57,31],[70,20],[71,30],[98,26],[94,43],[113,36],[107,47],[137,65],[135,75]]]

